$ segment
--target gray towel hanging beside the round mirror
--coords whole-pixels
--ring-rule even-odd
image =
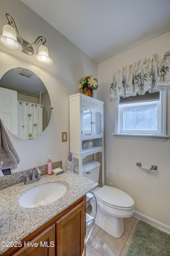
[[[5,122],[0,116],[0,170],[15,170],[20,159],[7,134]]]

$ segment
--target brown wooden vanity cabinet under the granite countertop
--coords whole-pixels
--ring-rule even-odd
[[[24,247],[28,241],[38,246]],[[50,242],[54,243],[50,246]],[[85,256],[86,195],[28,235],[22,245],[11,247],[1,256]]]

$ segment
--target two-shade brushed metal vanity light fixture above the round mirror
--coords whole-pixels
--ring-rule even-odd
[[[53,61],[49,57],[48,49],[45,46],[46,39],[45,37],[37,37],[35,42],[28,43],[24,41],[18,32],[14,19],[10,14],[6,13],[5,17],[8,21],[7,24],[3,26],[2,35],[0,36],[0,45],[9,50],[16,53],[23,52],[28,55],[34,54],[34,49],[32,46],[37,45],[41,41],[41,45],[39,47],[38,54],[34,57],[35,61],[44,66],[52,65]]]

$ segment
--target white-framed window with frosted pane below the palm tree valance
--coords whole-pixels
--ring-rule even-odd
[[[166,141],[166,89],[115,101],[116,138]]]

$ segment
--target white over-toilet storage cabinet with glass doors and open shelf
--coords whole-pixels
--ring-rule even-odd
[[[82,173],[82,159],[87,155],[101,152],[102,186],[104,186],[104,146],[103,146],[103,101],[82,93],[69,96],[70,99],[70,152],[79,161],[79,175]],[[90,140],[93,146],[82,149],[84,141]],[[74,166],[73,166],[74,167]]]

